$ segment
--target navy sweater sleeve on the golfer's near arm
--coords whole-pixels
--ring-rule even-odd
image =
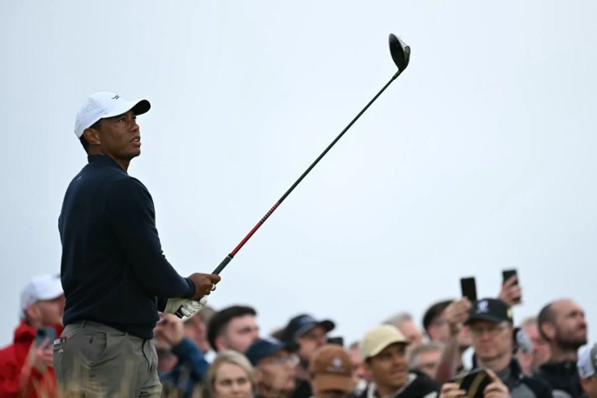
[[[191,298],[195,285],[168,263],[155,226],[153,199],[135,178],[116,181],[109,188],[106,212],[141,285],[151,295]]]

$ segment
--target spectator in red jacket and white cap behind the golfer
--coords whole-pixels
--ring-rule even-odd
[[[57,396],[51,339],[62,332],[63,308],[59,276],[40,275],[27,283],[21,292],[21,323],[13,344],[0,350],[0,397]],[[47,335],[41,345],[38,331]]]

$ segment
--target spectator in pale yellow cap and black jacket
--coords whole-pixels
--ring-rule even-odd
[[[368,331],[361,340],[361,359],[371,382],[359,398],[435,398],[439,387],[426,374],[410,370],[408,340],[392,325]]]

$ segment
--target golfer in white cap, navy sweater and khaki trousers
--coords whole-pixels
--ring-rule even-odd
[[[76,116],[88,164],[69,184],[59,217],[64,331],[53,361],[65,396],[159,397],[152,342],[158,311],[190,316],[220,281],[174,270],[162,252],[152,197],[127,173],[141,153],[137,116],[149,109],[147,100],[98,92]]]

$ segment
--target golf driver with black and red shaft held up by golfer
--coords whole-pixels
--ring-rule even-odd
[[[317,163],[319,163],[319,161],[321,161],[321,159],[325,156],[325,154],[328,153],[328,151],[338,142],[338,140],[340,140],[340,138],[342,138],[344,133],[346,131],[348,131],[348,129],[350,127],[352,127],[353,124],[355,124],[355,122],[361,117],[361,115],[363,113],[365,113],[365,110],[367,110],[371,106],[371,104],[373,104],[374,101],[377,100],[377,97],[379,97],[381,95],[381,93],[384,92],[386,90],[386,88],[390,84],[392,84],[392,82],[395,81],[396,78],[398,78],[398,76],[401,75],[402,72],[404,72],[404,70],[408,66],[408,61],[410,61],[410,53],[411,53],[410,47],[408,47],[408,45],[406,45],[401,39],[399,39],[398,37],[393,35],[393,33],[390,33],[389,44],[390,44],[390,55],[392,55],[392,60],[396,64],[396,67],[398,67],[398,71],[392,76],[390,81],[387,82],[383,88],[381,88],[381,90],[375,95],[375,97],[373,97],[371,99],[371,101],[369,101],[369,103],[367,105],[365,105],[365,107],[361,110],[361,112],[359,112],[358,115],[356,115],[355,118],[352,119],[352,121],[346,126],[346,128],[344,128],[340,132],[340,134],[338,134],[338,137],[336,137],[336,139],[334,141],[332,141],[332,143],[324,150],[324,152],[322,152],[321,155],[319,155],[319,157],[317,159],[315,159],[315,162],[313,162],[309,166],[309,168],[307,168],[303,172],[303,174],[300,177],[298,177],[298,180],[296,180],[294,182],[294,184],[284,193],[284,195],[282,195],[282,197],[280,199],[278,199],[278,202],[276,202],[275,205],[273,205],[272,208],[269,209],[269,211],[263,216],[263,218],[261,218],[261,220],[259,220],[259,223],[257,223],[256,226],[254,226],[253,229],[247,234],[247,236],[245,236],[241,240],[241,243],[239,243],[234,248],[234,250],[232,252],[230,252],[230,254],[228,254],[226,256],[226,258],[224,258],[224,260],[222,260],[220,265],[217,266],[217,268],[213,271],[214,274],[220,274],[221,271],[224,270],[224,268],[226,268],[228,263],[230,263],[230,261],[232,261],[234,256],[241,250],[242,246],[244,246],[245,243],[247,243],[247,241],[249,239],[251,239],[251,236],[253,236],[253,234],[257,232],[259,227],[261,227],[263,225],[263,223],[265,223],[267,218],[269,218],[269,216],[272,215],[272,213],[275,211],[275,209],[277,209],[278,206],[281,205],[282,202],[284,202],[284,199],[286,199],[288,197],[288,195],[290,195],[290,193],[293,192],[293,190],[297,187],[297,185],[301,181],[303,181],[303,178],[306,177],[307,174],[309,174],[309,172],[315,167],[315,165]],[[179,313],[177,313],[177,315],[179,317],[182,317],[182,314],[180,313],[180,311],[179,311]]]

